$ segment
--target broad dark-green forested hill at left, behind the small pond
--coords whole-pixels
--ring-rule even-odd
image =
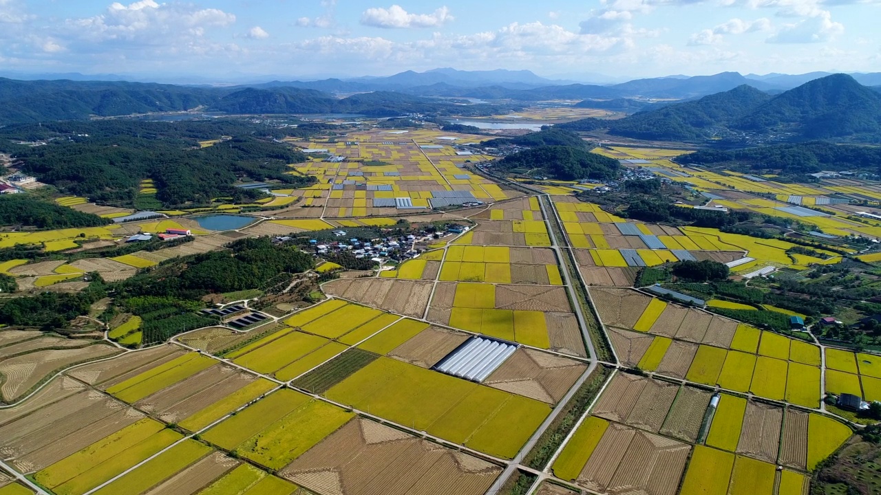
[[[224,132],[226,131],[226,132]],[[57,122],[0,129],[0,149],[11,151],[19,167],[63,192],[92,201],[130,207],[140,181],[152,179],[156,199],[170,209],[182,204],[210,203],[233,196],[263,197],[254,189],[233,186],[238,181],[276,181],[294,186],[314,181],[287,174],[288,164],[306,157],[274,137],[283,131],[248,122]],[[196,141],[231,138],[200,148]],[[270,135],[270,136],[267,136]],[[23,137],[47,139],[34,147],[14,146]]]

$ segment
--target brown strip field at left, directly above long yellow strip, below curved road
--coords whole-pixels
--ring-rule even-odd
[[[105,389],[185,353],[178,345],[159,345],[144,351],[128,352],[93,365],[80,366],[67,374],[89,385],[100,385],[101,389]]]

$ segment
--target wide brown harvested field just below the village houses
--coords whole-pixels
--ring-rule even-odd
[[[324,284],[324,292],[357,301],[391,313],[422,318],[428,306],[433,283],[394,278],[354,278]]]

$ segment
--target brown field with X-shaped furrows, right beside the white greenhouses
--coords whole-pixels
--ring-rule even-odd
[[[484,381],[485,385],[555,404],[587,366],[533,349],[518,349]]]

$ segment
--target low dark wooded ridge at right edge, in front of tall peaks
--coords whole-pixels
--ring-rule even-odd
[[[820,170],[881,172],[881,148],[825,142],[777,144],[742,150],[697,151],[677,157],[675,161],[782,175],[813,174]]]

